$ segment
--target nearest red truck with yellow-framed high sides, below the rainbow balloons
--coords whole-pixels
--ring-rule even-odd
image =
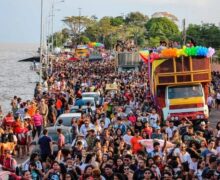
[[[151,91],[164,120],[208,119],[209,57],[162,55],[151,65]]]

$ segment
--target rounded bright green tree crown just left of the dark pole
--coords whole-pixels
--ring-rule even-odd
[[[165,17],[151,18],[145,25],[149,37],[172,39],[179,35],[178,26]]]

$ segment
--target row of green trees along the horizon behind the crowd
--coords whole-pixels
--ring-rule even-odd
[[[138,47],[155,47],[160,41],[183,44],[183,33],[176,22],[167,17],[149,18],[140,12],[124,16],[69,16],[62,20],[66,28],[54,33],[55,45],[62,46],[67,40],[73,44],[102,42],[111,49],[117,40],[133,40]],[[220,28],[215,24],[189,24],[186,40],[198,45],[220,49]]]

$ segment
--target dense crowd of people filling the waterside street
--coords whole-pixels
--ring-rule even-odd
[[[54,62],[33,100],[15,96],[7,115],[0,109],[2,170],[24,180],[220,179],[220,122],[215,129],[187,117],[163,122],[149,96],[146,70],[119,73],[110,60]],[[219,74],[213,76],[216,86]],[[108,90],[108,84],[117,88]],[[62,119],[57,142],[47,127],[80,104],[83,92],[98,92],[100,103],[95,111],[89,103],[79,107],[81,117],[71,120],[72,147],[66,148]],[[32,152],[34,140],[39,153]]]

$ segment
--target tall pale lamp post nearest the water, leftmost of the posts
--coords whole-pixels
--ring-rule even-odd
[[[41,23],[40,23],[40,84],[42,83],[42,61],[43,61],[43,0],[41,0]]]

